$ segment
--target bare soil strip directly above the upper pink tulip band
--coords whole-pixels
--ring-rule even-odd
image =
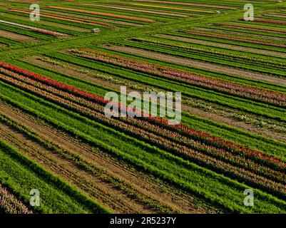
[[[124,51],[127,53],[133,53],[133,54],[140,55],[140,56],[147,57],[147,58],[156,58],[162,61],[168,61],[170,63],[176,63],[180,65],[185,65],[185,66],[193,66],[195,68],[201,68],[207,71],[227,73],[233,76],[242,76],[246,78],[267,81],[269,83],[277,83],[283,86],[286,85],[286,80],[283,78],[266,76],[260,73],[252,73],[250,71],[242,71],[236,68],[225,67],[225,66],[221,66],[215,63],[205,63],[202,61],[195,61],[195,60],[190,60],[188,58],[175,57],[169,54],[158,53],[155,51],[145,51],[145,50],[141,50],[138,48],[130,48],[130,47],[123,47],[123,46],[112,46],[112,47],[108,46],[108,48],[115,50],[115,51]]]

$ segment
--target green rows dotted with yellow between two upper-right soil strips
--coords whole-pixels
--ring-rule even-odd
[[[159,40],[162,41],[162,39],[160,38]],[[163,40],[163,42],[165,42],[165,40]],[[133,50],[129,48],[128,52],[136,54],[136,55],[138,55],[137,54],[138,50],[136,50],[136,48],[140,48],[141,50],[139,51],[142,51],[143,49],[144,51],[153,51],[153,52],[164,53],[164,54],[175,56],[176,59],[173,60],[173,62],[176,63],[177,66],[180,66],[180,68],[183,68],[184,66],[186,66],[186,64],[184,62],[180,63],[178,57],[188,58],[189,61],[198,60],[200,61],[200,63],[202,63],[203,61],[208,62],[208,63],[215,63],[220,66],[223,66],[222,73],[211,72],[212,70],[208,71],[208,68],[215,68],[215,66],[207,66],[205,71],[203,70],[203,67],[200,67],[199,71],[204,71],[203,73],[204,75],[215,75],[215,76],[218,76],[219,78],[225,78],[226,80],[230,80],[230,81],[233,81],[233,79],[235,78],[235,81],[238,81],[238,82],[243,81],[242,83],[246,83],[249,85],[253,84],[254,86],[261,86],[263,81],[262,82],[257,81],[257,79],[255,79],[257,76],[254,76],[253,79],[249,77],[247,78],[246,76],[243,75],[243,72],[241,72],[240,74],[234,73],[235,75],[233,75],[232,72],[230,71],[229,75],[227,73],[227,76],[225,77],[225,73],[228,72],[228,71],[225,71],[225,68],[226,67],[232,68],[231,70],[233,70],[233,68],[239,68],[240,71],[247,70],[247,71],[253,71],[256,74],[263,73],[265,75],[270,74],[272,76],[285,77],[284,75],[285,63],[283,63],[283,61],[285,62],[285,58],[278,59],[278,58],[275,58],[274,56],[271,56],[268,58],[268,60],[266,60],[266,58],[261,58],[261,57],[257,58],[257,56],[249,55],[249,54],[247,54],[247,58],[240,58],[240,56],[242,56],[240,54],[241,52],[238,53],[236,51],[233,51],[233,53],[232,51],[229,51],[229,53],[227,53],[224,56],[223,53],[225,51],[223,50],[220,52],[222,48],[214,48],[215,50],[212,50],[212,48],[208,48],[208,49],[201,48],[200,45],[195,45],[195,46],[192,45],[191,47],[183,48],[181,45],[182,43],[177,43],[173,41],[171,41],[172,44],[160,44],[160,43],[157,44],[157,38],[156,38],[156,41],[151,41],[151,42],[142,41],[141,38],[132,38],[129,41],[113,41],[112,43],[115,43],[117,46],[124,45],[124,46],[131,47],[133,48]],[[113,49],[113,48],[116,49],[118,47],[111,47],[110,49]],[[149,56],[150,57],[148,58],[152,58],[152,55],[149,55]],[[162,56],[162,58],[165,58],[165,57],[166,56]],[[160,59],[160,56],[158,57],[154,55],[153,58]],[[275,63],[277,64],[275,65]],[[194,66],[192,66],[191,64],[187,68],[192,68],[194,71],[193,67],[195,67],[195,65],[196,65],[195,63],[194,63]],[[240,77],[240,75],[243,77]],[[255,81],[255,83],[253,83],[253,81]],[[269,85],[268,86],[264,85],[264,87],[269,88]],[[277,88],[275,85],[273,85],[272,88],[270,88],[270,90],[277,90]]]

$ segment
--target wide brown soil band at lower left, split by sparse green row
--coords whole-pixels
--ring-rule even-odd
[[[126,182],[128,186],[131,186],[134,191],[138,192],[142,198],[154,202],[155,204],[160,205],[162,208],[171,209],[173,212],[180,213],[210,212],[209,209],[198,209],[194,201],[195,199],[193,199],[193,197],[190,195],[185,195],[183,192],[178,192],[177,190],[173,189],[173,187],[157,184],[153,182],[153,180],[150,180],[150,178],[148,178],[146,175],[128,170],[127,167],[121,165],[111,157],[106,156],[104,153],[94,152],[94,150],[85,143],[78,142],[76,139],[61,133],[51,126],[39,123],[26,113],[15,110],[4,103],[0,103],[0,113],[9,116],[9,118],[14,119],[17,123],[21,123],[21,125],[26,126],[26,128],[33,130],[37,134],[41,135],[42,138],[48,142],[53,142],[63,150],[70,151],[75,155],[80,155],[88,162],[88,164],[97,167],[99,170],[103,170],[103,173],[106,173],[108,177],[116,177],[118,180],[124,180],[124,182]],[[2,129],[4,128],[1,126],[1,130]],[[113,183],[105,182],[101,179],[101,177],[78,169],[73,162],[66,160],[58,154],[54,154],[53,152],[48,152],[43,148],[39,148],[40,145],[36,145],[34,141],[29,142],[29,140],[24,140],[23,135],[21,136],[19,133],[11,133],[11,130],[8,129],[6,129],[6,132],[9,132],[12,135],[14,134],[14,139],[9,140],[10,143],[16,142],[15,139],[18,139],[19,142],[30,143],[31,148],[38,147],[39,150],[32,149],[29,151],[40,152],[41,155],[38,156],[38,159],[46,156],[49,160],[51,160],[48,163],[39,161],[41,162],[41,165],[44,165],[48,169],[51,169],[52,165],[56,165],[56,167],[53,167],[53,172],[56,172],[57,175],[60,175],[69,182],[72,182],[73,185],[81,188],[81,190],[85,191],[88,195],[96,198],[98,202],[101,202],[107,207],[113,209],[115,212],[159,212],[157,208],[150,208],[150,205],[146,205],[141,202],[141,200],[136,198],[134,199],[132,195],[129,196],[128,193],[126,194],[122,190],[118,190]],[[59,170],[59,167],[65,170]],[[83,180],[84,185],[81,184]],[[86,188],[86,186],[89,187]]]

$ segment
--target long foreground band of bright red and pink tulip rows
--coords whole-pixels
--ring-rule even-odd
[[[9,73],[9,72],[4,71],[2,73]],[[6,78],[6,81],[9,81],[10,83],[13,83],[16,86],[19,86],[21,88],[26,88],[26,90],[33,91],[37,95],[41,95],[44,96],[45,98],[53,100],[53,102],[57,102],[68,108],[72,108],[73,110],[76,110],[79,113],[86,114],[91,118],[96,118],[98,121],[102,123],[112,125],[113,128],[119,128],[121,130],[125,130],[128,133],[137,134],[140,138],[152,142],[153,144],[158,145],[159,147],[163,147],[166,150],[169,150],[171,152],[180,152],[183,155],[188,155],[188,158],[191,158],[191,160],[195,162],[199,162],[200,165],[203,162],[204,165],[210,167],[213,170],[218,170],[219,172],[223,172],[230,177],[235,177],[239,180],[249,182],[250,185],[254,185],[255,187],[261,187],[262,189],[265,189],[268,192],[275,193],[275,195],[281,195],[281,192],[285,191],[284,185],[267,180],[266,178],[260,177],[259,175],[256,175],[253,172],[248,172],[247,170],[245,170],[245,168],[242,167],[245,166],[246,169],[248,170],[252,170],[256,173],[257,172],[262,173],[262,175],[264,174],[267,177],[270,177],[270,179],[280,180],[280,182],[285,183],[285,175],[282,172],[277,172],[275,170],[269,169],[268,167],[263,167],[262,165],[255,164],[254,162],[252,162],[252,160],[247,160],[247,159],[245,160],[243,157],[240,157],[238,155],[233,155],[225,150],[218,150],[215,147],[203,145],[200,142],[195,142],[193,140],[188,140],[188,138],[185,138],[185,140],[187,140],[190,143],[190,145],[192,145],[191,147],[193,147],[193,149],[198,149],[200,150],[200,152],[198,152],[197,150],[192,150],[187,145],[180,145],[178,142],[173,142],[170,139],[167,140],[165,138],[153,134],[154,132],[168,133],[168,130],[165,130],[163,128],[157,128],[156,126],[152,126],[143,120],[137,120],[134,118],[127,120],[127,122],[132,122],[135,120],[133,123],[133,127],[131,128],[130,125],[122,123],[123,122],[122,120],[114,120],[111,118],[107,118],[102,113],[98,113],[97,111],[95,111],[96,109],[102,111],[102,106],[93,103],[90,100],[78,98],[75,95],[64,92],[63,90],[58,90],[52,86],[47,86],[46,84],[40,83],[39,81],[34,81],[31,80],[31,78],[25,78],[15,73],[10,73],[10,76],[14,76],[15,78],[18,77],[20,81],[26,82],[26,83],[21,83],[17,80],[14,80],[14,78]],[[4,78],[4,76],[1,75],[1,78]],[[35,86],[38,86],[38,88],[35,88]],[[44,90],[39,89],[40,87],[44,88]],[[47,92],[48,90],[52,93],[48,93]],[[57,96],[56,94],[60,96]],[[62,97],[68,98],[68,100],[63,99]],[[73,100],[73,102],[71,102],[71,100]],[[76,104],[76,102],[80,103],[81,105]],[[86,107],[84,107],[83,104],[85,104]],[[95,108],[93,109],[87,108],[88,106]],[[143,124],[141,122],[143,122]],[[147,131],[138,130],[135,127],[135,125],[140,125],[140,124],[142,124],[142,126],[145,127]],[[150,127],[153,127],[153,129]],[[150,133],[149,132],[150,130],[153,133]],[[218,159],[210,157],[213,155],[215,155],[214,157],[217,157]],[[229,162],[229,164],[227,162]],[[238,165],[242,167],[234,167],[233,165]]]

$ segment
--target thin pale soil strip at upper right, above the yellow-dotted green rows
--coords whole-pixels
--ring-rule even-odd
[[[263,49],[258,49],[258,48],[249,48],[249,47],[244,47],[244,46],[236,46],[236,45],[232,45],[228,43],[203,41],[203,40],[198,40],[195,38],[186,38],[182,36],[170,36],[170,35],[165,35],[165,34],[158,34],[158,35],[155,35],[155,37],[168,38],[173,41],[183,41],[183,42],[188,42],[188,43],[203,44],[206,46],[213,46],[213,47],[218,47],[218,48],[228,48],[230,50],[235,50],[235,51],[245,51],[245,52],[258,53],[258,54],[267,55],[267,56],[277,56],[277,57],[286,58],[286,53],[263,50]]]

